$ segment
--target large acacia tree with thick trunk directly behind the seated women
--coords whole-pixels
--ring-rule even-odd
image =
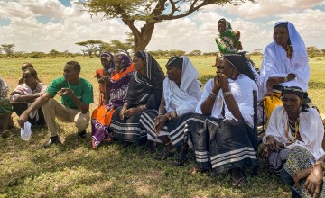
[[[104,14],[104,18],[121,19],[132,31],[135,51],[149,44],[156,23],[181,19],[209,4],[243,4],[255,0],[86,0],[79,1],[91,16]],[[135,22],[144,22],[138,29]]]

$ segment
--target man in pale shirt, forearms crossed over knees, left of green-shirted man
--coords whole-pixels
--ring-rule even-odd
[[[23,70],[23,84],[17,85],[10,94],[10,103],[13,103],[14,112],[20,116],[35,100],[45,94],[47,85],[37,81],[37,72],[32,67]],[[28,121],[32,125],[44,126],[45,120],[42,108],[32,112]]]

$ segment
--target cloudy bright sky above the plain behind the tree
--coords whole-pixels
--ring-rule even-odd
[[[73,0],[0,1],[0,44],[14,44],[15,51],[51,49],[80,52],[76,42],[125,40],[129,29],[118,19],[101,20],[80,12]],[[217,51],[214,41],[218,19],[225,17],[242,33],[245,50],[265,49],[273,41],[274,23],[290,21],[306,46],[325,49],[325,3],[323,0],[259,0],[258,4],[224,7],[210,5],[179,20],[158,23],[148,50],[182,49]],[[140,25],[140,23],[138,23]]]

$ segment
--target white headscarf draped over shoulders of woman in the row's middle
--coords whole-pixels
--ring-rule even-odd
[[[201,89],[198,70],[185,56],[183,58],[181,70],[181,85],[166,77],[163,80],[163,96],[167,112],[177,112],[178,115],[186,112],[195,112],[195,108],[200,100]]]

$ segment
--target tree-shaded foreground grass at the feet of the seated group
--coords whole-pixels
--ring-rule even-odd
[[[47,135],[36,133],[39,135],[31,144]],[[269,185],[279,188],[276,183],[280,180],[263,169],[258,177],[247,176],[245,187],[233,189],[228,172],[189,175],[194,166],[192,153],[189,163],[175,167],[171,165],[175,157],[154,160],[145,152],[145,146],[114,141],[92,150],[89,134],[86,139],[79,139],[76,133],[65,135],[64,144],[50,149],[28,148],[28,144],[14,139],[10,145],[18,147],[9,156],[18,159],[14,165],[8,163],[13,166],[10,172],[0,175],[0,193],[27,197],[252,197],[261,196]]]

